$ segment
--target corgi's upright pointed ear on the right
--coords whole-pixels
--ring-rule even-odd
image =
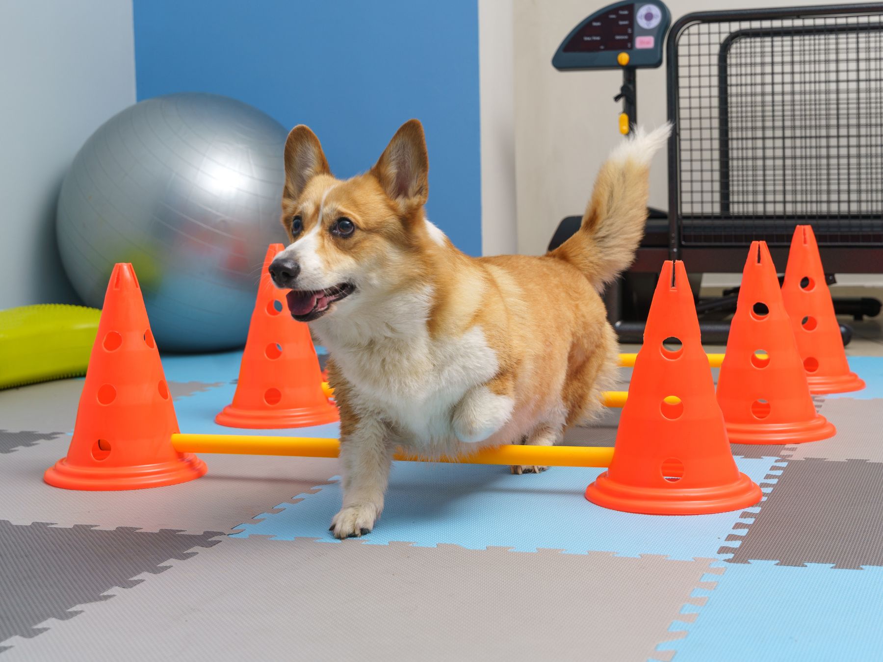
[[[429,158],[423,124],[416,119],[402,124],[371,171],[387,195],[400,205],[425,205],[429,194]]]

